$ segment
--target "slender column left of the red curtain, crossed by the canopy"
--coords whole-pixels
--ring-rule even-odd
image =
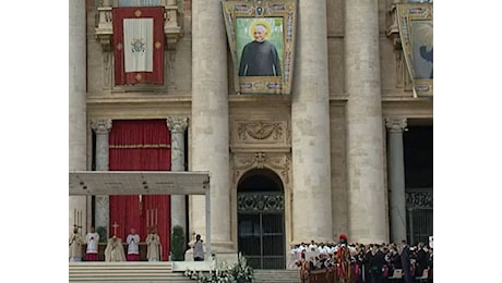
[[[96,120],[91,122],[91,127],[96,134],[96,171],[109,169],[109,133],[111,120]],[[96,196],[96,227],[104,226],[109,235],[110,200],[109,196]],[[108,238],[108,235],[106,236]]]

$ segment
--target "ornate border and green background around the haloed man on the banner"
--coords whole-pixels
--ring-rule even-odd
[[[282,1],[223,1],[223,14],[234,67],[237,94],[290,95],[295,59],[297,0]],[[282,72],[276,75],[238,75],[243,45],[259,23],[265,25],[270,42],[276,47]],[[270,32],[268,32],[270,30]],[[243,38],[246,40],[237,40]],[[247,42],[243,42],[247,41]]]

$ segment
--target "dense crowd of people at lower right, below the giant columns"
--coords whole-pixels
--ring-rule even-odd
[[[334,243],[301,243],[291,248],[291,259],[300,270],[302,282],[385,283],[393,279],[394,270],[402,271],[398,282],[415,282],[427,273],[432,282],[433,248],[418,243],[401,244],[347,243],[340,235]],[[319,274],[326,274],[320,276]],[[330,279],[330,275],[332,279]]]

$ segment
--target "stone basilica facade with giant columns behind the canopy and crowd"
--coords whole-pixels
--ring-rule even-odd
[[[432,3],[416,2],[70,1],[70,171],[208,172],[212,250],[255,268],[339,234],[427,242],[432,48],[415,45],[432,38]],[[239,28],[267,16],[280,77],[239,77]],[[175,225],[206,238],[205,201],[70,196],[69,231],[143,241],[155,226],[168,255]]]

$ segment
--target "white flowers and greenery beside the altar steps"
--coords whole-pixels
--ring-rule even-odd
[[[184,275],[199,283],[224,283],[224,282],[253,282],[253,269],[248,266],[248,260],[239,253],[236,263],[229,264],[226,261],[216,260],[215,266],[208,272],[187,270]]]

